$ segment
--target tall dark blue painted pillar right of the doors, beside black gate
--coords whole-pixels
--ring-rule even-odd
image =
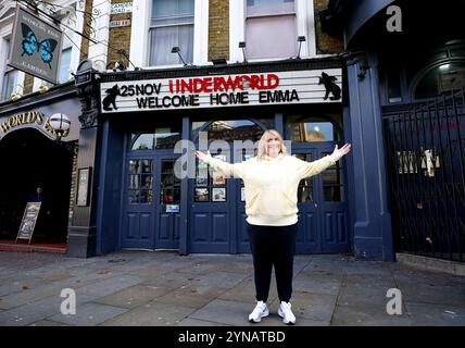
[[[369,65],[359,77],[360,62]],[[391,215],[388,208],[385,148],[377,58],[356,57],[348,63],[352,138],[355,257],[393,261]]]

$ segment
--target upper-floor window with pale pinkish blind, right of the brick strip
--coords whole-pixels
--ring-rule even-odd
[[[246,42],[248,59],[296,55],[294,0],[247,0]]]

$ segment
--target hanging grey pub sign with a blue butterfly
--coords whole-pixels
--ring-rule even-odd
[[[17,5],[8,65],[56,84],[62,36],[60,28]]]

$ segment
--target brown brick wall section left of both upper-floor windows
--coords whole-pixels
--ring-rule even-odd
[[[112,0],[112,3],[131,2],[128,0]],[[117,13],[110,16],[110,21],[133,20],[131,13]],[[133,25],[134,23],[131,23]],[[109,24],[110,25],[110,24]],[[137,24],[136,24],[137,25]],[[143,45],[141,42],[141,45]],[[127,59],[116,53],[116,50],[123,49],[129,57],[130,49],[130,26],[111,27],[109,34],[108,69],[114,67],[116,62],[122,62],[124,66],[130,65]]]

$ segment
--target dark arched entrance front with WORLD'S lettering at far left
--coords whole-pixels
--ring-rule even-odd
[[[0,107],[0,244],[2,249],[40,245],[65,251],[79,103],[73,85]],[[66,115],[71,128],[56,141],[52,115]],[[38,197],[37,188],[41,188]],[[30,243],[18,239],[25,207],[40,201]],[[10,249],[9,249],[10,248]],[[12,250],[13,250],[12,249]]]

